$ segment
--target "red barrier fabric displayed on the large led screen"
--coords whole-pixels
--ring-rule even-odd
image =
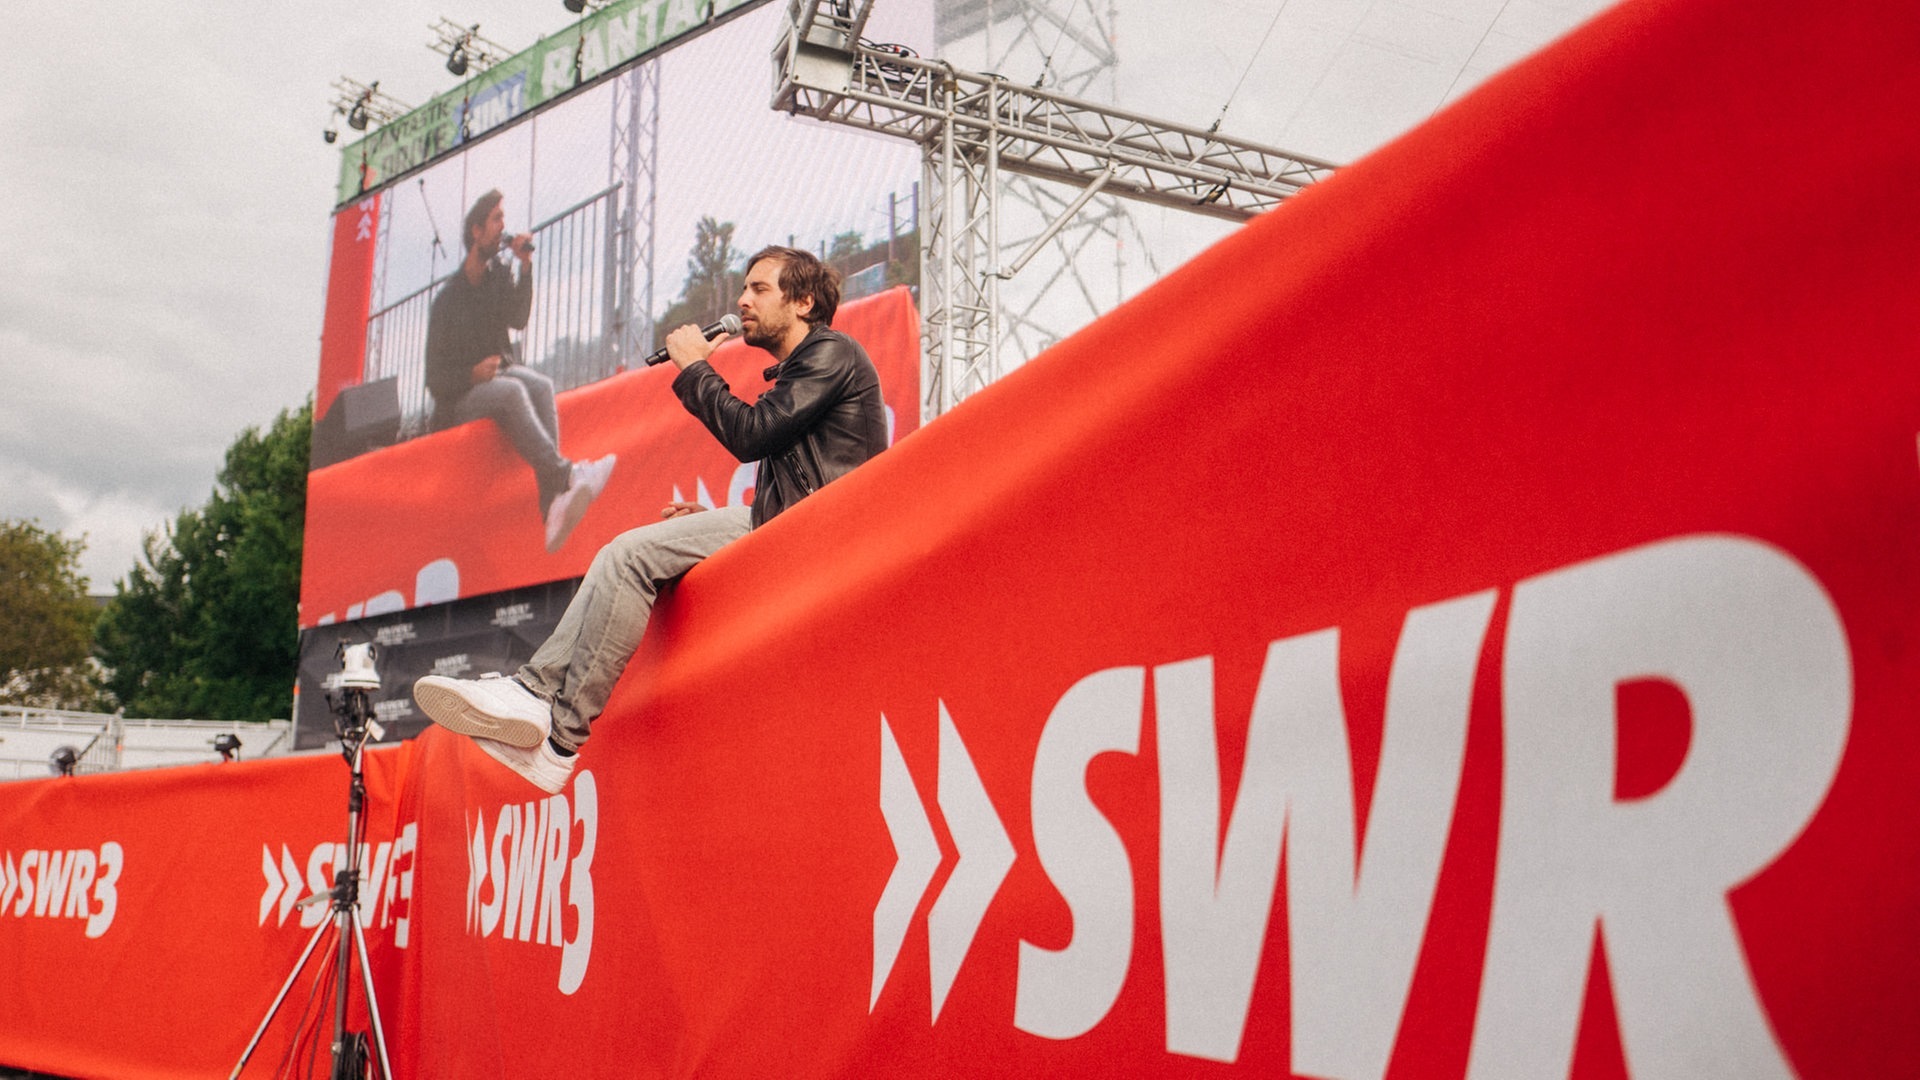
[[[365,315],[365,313],[363,313]],[[365,323],[365,317],[361,319]],[[893,436],[920,427],[920,315],[906,288],[841,306],[833,327],[879,369]],[[755,400],[768,354],[739,338],[714,369]],[[534,471],[490,421],[351,457],[307,477],[301,628],[576,578],[620,532],[659,521],[668,502],[741,505],[753,463],[735,461],[674,398],[672,365],[628,371],[559,394],[561,454],[618,454],[607,490],[559,552],[547,553]]]

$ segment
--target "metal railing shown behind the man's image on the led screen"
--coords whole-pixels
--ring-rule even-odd
[[[620,184],[534,225],[534,311],[518,334],[520,363],[553,379],[555,390],[595,382],[622,369],[614,350],[618,317],[614,242]],[[426,430],[426,323],[440,286],[434,279],[367,319],[363,379],[399,377],[401,434]]]

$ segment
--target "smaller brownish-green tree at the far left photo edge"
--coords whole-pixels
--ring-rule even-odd
[[[0,701],[92,709],[94,605],[81,577],[83,540],[33,521],[0,521]]]

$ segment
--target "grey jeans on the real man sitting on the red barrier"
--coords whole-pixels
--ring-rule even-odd
[[[747,534],[743,505],[670,517],[614,536],[593,555],[561,625],[518,671],[553,703],[553,742],[580,749],[647,634],[660,586]]]

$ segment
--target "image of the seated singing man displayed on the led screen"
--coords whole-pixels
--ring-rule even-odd
[[[426,321],[426,390],[434,430],[476,419],[499,425],[534,467],[547,552],[559,552],[588,505],[607,486],[614,457],[572,463],[561,455],[553,380],[515,363],[509,331],[524,331],[534,309],[534,238],[507,234],[499,190],[474,200],[461,233],[467,258],[434,296]],[[501,259],[501,252],[511,259]],[[513,271],[518,261],[518,275]]]

